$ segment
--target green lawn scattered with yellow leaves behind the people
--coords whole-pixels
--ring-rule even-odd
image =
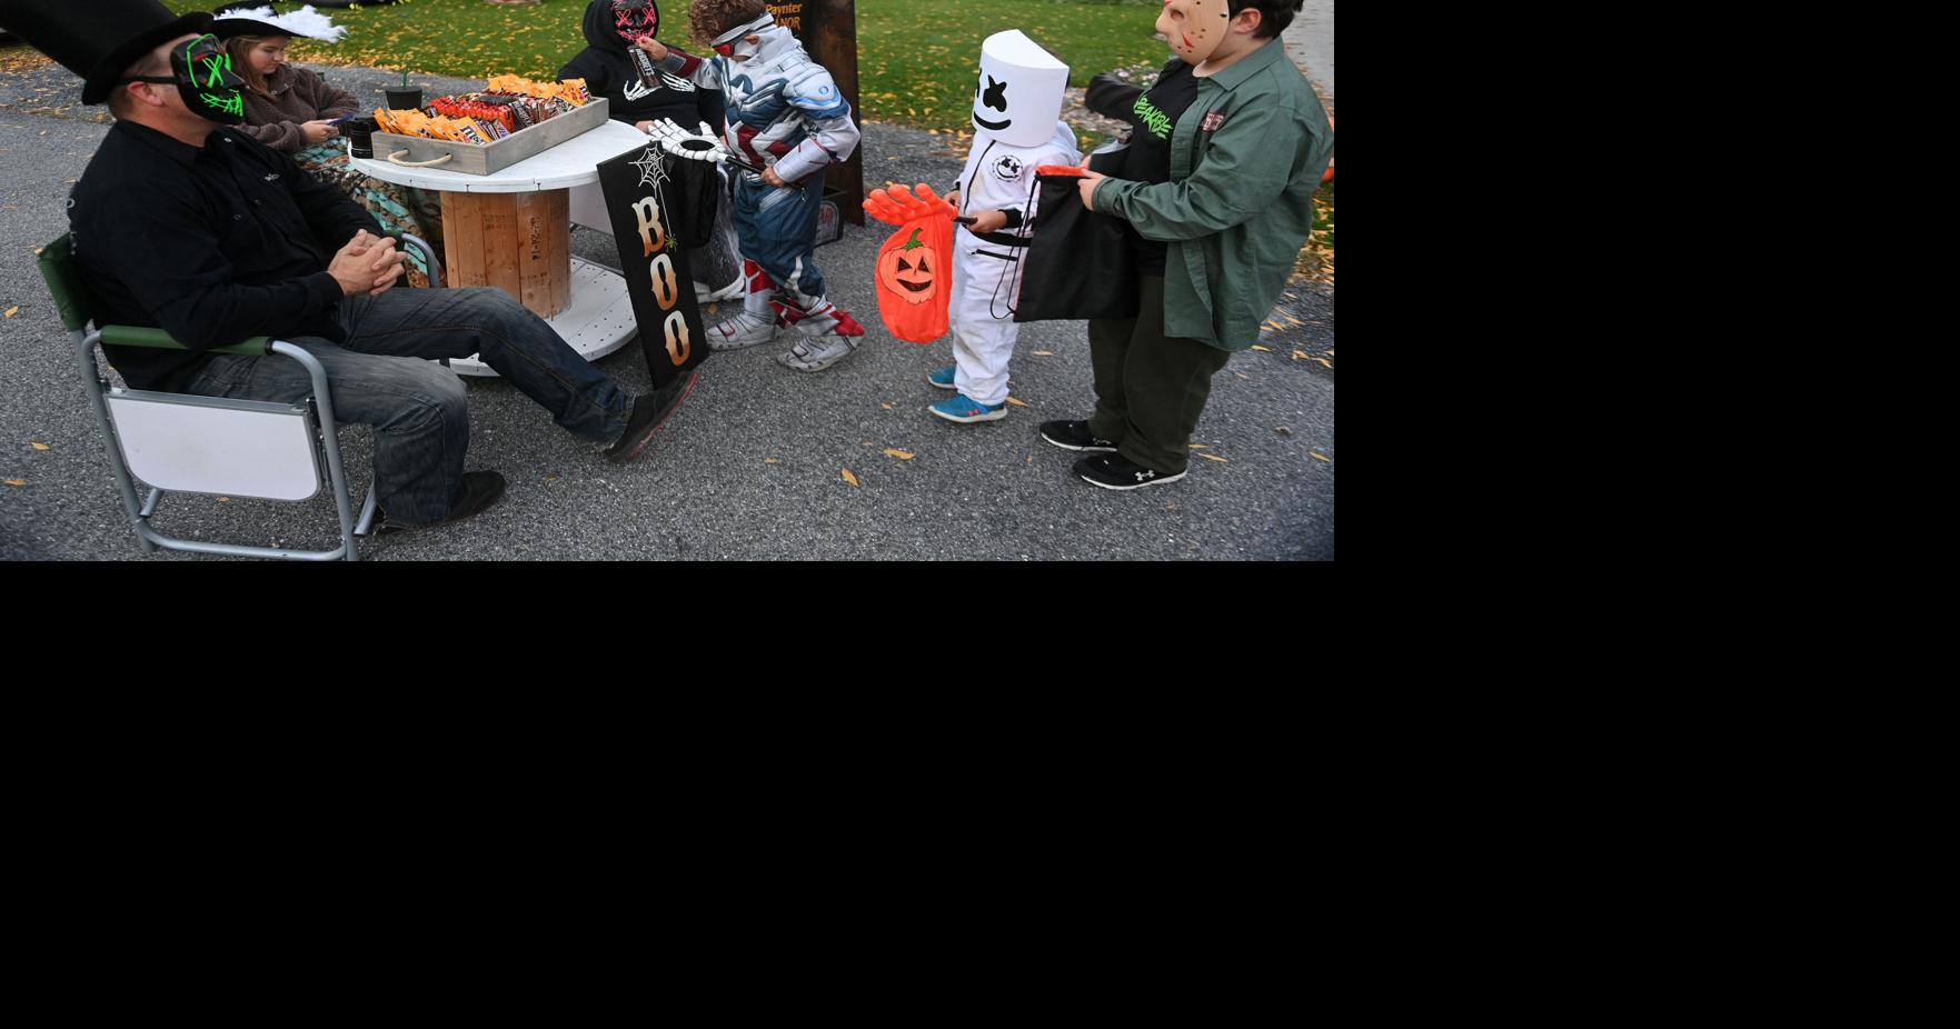
[[[165,0],[178,14],[210,10],[204,0]],[[584,49],[578,0],[496,6],[482,0],[404,0],[380,8],[329,10],[347,39],[335,45],[294,39],[298,61],[406,69],[410,73],[488,78],[515,73],[557,74]],[[1102,71],[1158,65],[1168,57],[1152,39],[1158,6],[1149,0],[860,0],[860,118],[929,129],[970,127],[980,41],[1021,29],[1068,63],[1068,82],[1088,84]],[[661,37],[690,51],[686,0],[661,4]]]

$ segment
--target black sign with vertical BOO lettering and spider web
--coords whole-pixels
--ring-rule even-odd
[[[668,157],[661,147],[621,153],[600,163],[598,171],[633,319],[639,321],[639,349],[659,388],[708,361],[708,333],[688,267],[688,249],[696,241],[682,235],[702,233],[676,216],[686,210],[684,198],[698,196],[702,188],[713,190],[708,180],[719,176],[711,165]],[[698,188],[690,190],[690,182]]]

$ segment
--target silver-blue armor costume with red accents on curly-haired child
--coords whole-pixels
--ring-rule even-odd
[[[735,235],[749,292],[743,314],[715,325],[708,343],[717,351],[753,347],[790,325],[800,339],[778,361],[823,370],[864,335],[825,298],[813,261],[823,167],[851,159],[858,145],[851,104],[831,73],[768,14],[717,35],[713,47],[717,57],[672,51],[662,65],[700,88],[723,90],[723,145],[751,165],[774,169],[788,186],[770,186],[755,172],[735,178]]]

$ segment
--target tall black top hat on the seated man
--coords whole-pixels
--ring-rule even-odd
[[[204,35],[212,16],[182,18],[157,0],[0,0],[0,27],[82,76],[82,104],[110,98],[139,57],[178,35]]]

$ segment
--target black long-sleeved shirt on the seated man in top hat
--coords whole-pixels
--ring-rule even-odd
[[[253,335],[345,343],[327,263],[380,225],[290,157],[220,127],[190,147],[133,122],[110,129],[69,198],[96,325],[155,325],[192,349],[106,347],[139,390],[180,390],[210,347]]]

